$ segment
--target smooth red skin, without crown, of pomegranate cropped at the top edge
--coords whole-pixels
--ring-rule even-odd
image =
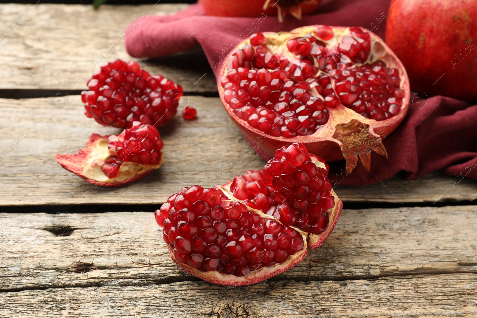
[[[199,2],[207,15],[218,17],[259,17],[263,13],[278,14],[276,6],[270,7],[275,1],[271,1],[267,10],[263,10],[266,0],[200,0]],[[306,15],[314,13],[320,7],[320,2],[301,3],[300,6],[301,13]]]

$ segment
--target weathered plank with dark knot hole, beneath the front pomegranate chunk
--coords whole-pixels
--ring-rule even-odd
[[[0,214],[0,291],[198,280],[152,213]],[[275,280],[477,273],[477,206],[344,210],[323,246]]]

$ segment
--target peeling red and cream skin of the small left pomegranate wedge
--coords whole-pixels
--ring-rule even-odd
[[[88,181],[89,183],[93,185],[99,185],[99,186],[121,186],[121,185],[127,185],[128,183],[134,182],[136,180],[139,180],[146,175],[152,173],[155,171],[155,169],[147,170],[145,173],[142,174],[133,174],[131,178],[128,178],[124,180],[123,182],[100,182],[96,180],[89,179],[83,175],[83,167],[85,166],[85,161],[86,157],[88,154],[90,154],[93,151],[93,148],[96,146],[98,141],[100,140],[105,140],[106,143],[108,142],[108,137],[109,136],[100,136],[98,134],[91,134],[91,136],[88,139],[88,142],[86,143],[86,147],[83,149],[78,150],[78,154],[57,154],[55,156],[55,160],[57,163],[59,163],[64,169],[73,172],[74,174],[78,175],[79,177],[82,177],[84,180]],[[161,150],[162,152],[162,150]],[[162,156],[164,159],[164,155]]]

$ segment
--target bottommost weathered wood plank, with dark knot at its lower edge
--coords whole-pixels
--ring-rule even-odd
[[[182,282],[149,287],[25,290],[0,295],[2,317],[476,317],[476,275],[262,282],[224,287]]]

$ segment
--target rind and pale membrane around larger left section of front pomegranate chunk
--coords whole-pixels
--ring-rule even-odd
[[[230,200],[229,202],[235,201],[236,199]],[[240,200],[237,200],[240,201]],[[275,220],[279,222],[281,225],[283,225],[279,220],[274,218],[273,216],[263,214],[261,211],[256,210],[254,208],[249,207],[248,205],[247,209],[251,213],[255,213],[260,215],[260,217],[267,218],[270,220]],[[174,257],[174,253],[170,246],[167,246],[169,249],[169,253],[171,255],[171,258],[174,262],[176,262],[177,265],[179,265],[181,268],[189,272],[190,274],[197,276],[205,281],[208,281],[210,283],[214,284],[219,284],[219,285],[226,285],[226,286],[245,286],[245,285],[252,285],[259,283],[263,280],[269,279],[271,277],[277,276],[287,270],[289,270],[291,267],[294,267],[298,263],[300,263],[307,255],[307,233],[301,231],[300,229],[297,229],[293,226],[292,227],[294,230],[296,230],[300,235],[303,237],[303,248],[296,252],[293,255],[290,255],[287,260],[285,260],[282,263],[275,264],[271,267],[262,267],[258,270],[253,270],[249,274],[245,276],[235,276],[235,275],[228,275],[228,274],[222,274],[219,273],[218,271],[212,271],[212,272],[201,272],[197,270],[196,268],[193,267],[188,267],[185,264],[182,264],[176,258]]]

